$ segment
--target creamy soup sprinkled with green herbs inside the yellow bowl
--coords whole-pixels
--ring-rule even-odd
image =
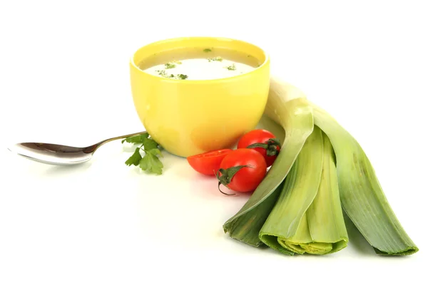
[[[257,58],[227,48],[179,48],[153,54],[138,64],[146,73],[177,80],[227,78],[258,66]]]

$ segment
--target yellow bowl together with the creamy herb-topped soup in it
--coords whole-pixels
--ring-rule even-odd
[[[131,90],[141,122],[165,150],[188,157],[231,147],[257,125],[270,59],[229,38],[173,38],[138,49]]]

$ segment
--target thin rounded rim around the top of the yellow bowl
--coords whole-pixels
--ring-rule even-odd
[[[172,79],[172,78],[164,78],[161,76],[155,76],[151,73],[147,73],[143,70],[141,70],[140,68],[138,68],[138,66],[136,65],[134,58],[136,56],[136,53],[138,53],[138,51],[140,51],[142,48],[147,48],[148,46],[154,46],[154,45],[158,45],[161,43],[166,43],[168,41],[188,41],[191,39],[214,39],[214,40],[218,40],[218,41],[238,41],[240,43],[245,43],[247,45],[250,46],[254,46],[256,48],[259,48],[260,51],[263,51],[263,54],[265,56],[265,61],[263,61],[263,63],[260,64],[260,66],[254,68],[252,71],[249,71],[247,73],[243,73],[243,74],[238,74],[235,76],[230,76],[230,77],[225,77],[225,78],[215,78],[215,79],[194,79],[194,80],[177,80],[177,79]],[[183,36],[183,37],[176,37],[176,38],[166,38],[160,41],[153,41],[152,43],[148,43],[144,46],[141,46],[141,48],[138,48],[131,56],[131,60],[130,60],[131,66],[133,66],[133,68],[136,68],[138,71],[141,71],[141,73],[143,73],[145,76],[149,76],[152,78],[158,78],[158,80],[161,81],[167,81],[167,82],[171,82],[171,83],[177,83],[177,84],[183,84],[183,83],[215,83],[216,81],[218,82],[224,82],[224,81],[233,81],[236,78],[243,78],[243,77],[247,77],[247,76],[251,76],[251,74],[258,72],[261,68],[265,68],[265,66],[267,66],[268,63],[270,63],[270,55],[269,53],[266,52],[265,48],[261,48],[258,45],[255,45],[254,43],[250,43],[248,41],[243,41],[240,39],[236,39],[236,38],[225,38],[225,37],[221,37],[221,36]]]

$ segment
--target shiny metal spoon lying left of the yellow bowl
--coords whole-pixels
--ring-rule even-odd
[[[36,160],[37,162],[49,165],[77,165],[91,160],[93,153],[106,142],[128,138],[133,135],[141,135],[143,133],[147,132],[144,131],[141,133],[109,138],[88,147],[69,147],[68,145],[54,145],[42,142],[21,142],[8,147],[8,149],[30,160]]]

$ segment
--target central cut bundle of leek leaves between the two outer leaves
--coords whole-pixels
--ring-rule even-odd
[[[319,128],[307,138],[260,239],[285,254],[330,254],[347,246],[330,140]]]

